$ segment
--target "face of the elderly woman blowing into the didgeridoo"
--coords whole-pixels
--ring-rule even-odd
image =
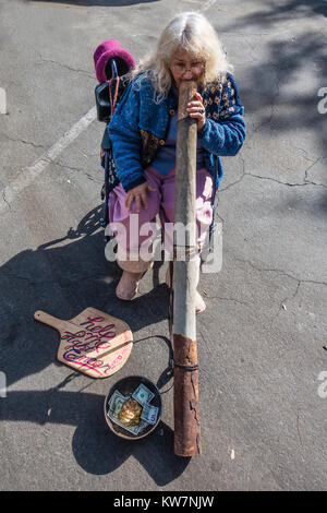
[[[203,60],[187,50],[179,49],[171,59],[170,71],[179,88],[182,80],[199,82],[205,69]]]

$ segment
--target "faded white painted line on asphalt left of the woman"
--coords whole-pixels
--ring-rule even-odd
[[[0,213],[9,207],[10,203],[49,166],[72,142],[96,119],[97,109],[93,107],[83,118],[65,132],[44,155],[25,168],[9,186],[0,198]]]

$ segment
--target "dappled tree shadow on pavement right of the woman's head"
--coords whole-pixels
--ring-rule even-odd
[[[265,36],[272,34],[281,23],[290,22],[294,25],[299,20],[299,27],[303,20],[316,20],[327,16],[327,2],[320,0],[289,0],[276,4],[275,2],[258,1],[258,8],[243,17],[238,17],[228,24],[223,32],[234,33],[244,37],[244,48],[252,34]],[[294,37],[290,38],[292,28],[287,34],[284,29],[276,34],[272,40],[267,40],[267,58],[264,62],[253,57],[249,61],[251,72],[250,86],[244,88],[240,84],[241,97],[246,98],[245,114],[251,112],[261,119],[257,130],[287,133],[303,129],[313,130],[319,141],[323,154],[326,154],[326,116],[318,111],[318,88],[327,83],[327,53],[326,35],[318,29],[306,29],[300,36],[294,31]],[[286,38],[286,35],[288,37]],[[251,50],[251,52],[252,52]],[[244,57],[246,50],[244,50]],[[251,57],[251,56],[249,56]],[[310,93],[296,88],[299,76],[307,77],[312,83]],[[294,82],[294,85],[293,83]],[[249,134],[251,138],[253,132]],[[247,138],[247,143],[250,138]]]

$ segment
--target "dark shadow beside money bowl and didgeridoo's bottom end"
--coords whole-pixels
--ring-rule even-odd
[[[133,456],[156,485],[165,486],[182,474],[191,461],[173,454],[173,431],[162,421],[136,442],[116,437],[104,417],[104,396],[98,394],[64,392],[58,386],[47,392],[10,392],[1,401],[1,417],[40,426],[76,426],[72,451],[77,464],[89,474],[109,474]]]

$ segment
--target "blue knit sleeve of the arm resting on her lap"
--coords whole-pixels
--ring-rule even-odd
[[[108,124],[119,180],[128,192],[146,181],[141,163],[140,91],[131,83]]]

